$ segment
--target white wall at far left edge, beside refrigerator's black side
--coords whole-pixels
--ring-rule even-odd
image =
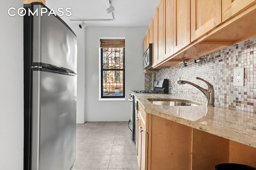
[[[23,170],[23,18],[10,17],[10,7],[23,2],[3,1],[0,7],[0,169]]]

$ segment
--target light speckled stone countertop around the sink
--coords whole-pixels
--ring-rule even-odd
[[[256,115],[247,111],[208,107],[204,102],[170,94],[134,94],[146,113],[199,129],[256,148]],[[171,98],[190,100],[201,106],[160,106],[148,98]]]

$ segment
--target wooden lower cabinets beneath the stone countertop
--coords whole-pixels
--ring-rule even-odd
[[[254,147],[148,114],[144,110],[139,110],[138,117],[140,170],[215,170],[215,165],[228,162],[256,168]]]

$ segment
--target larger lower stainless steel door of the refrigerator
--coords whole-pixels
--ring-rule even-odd
[[[76,76],[33,71],[32,170],[70,170],[76,155]]]

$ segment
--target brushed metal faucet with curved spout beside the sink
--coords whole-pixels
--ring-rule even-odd
[[[202,80],[204,81],[207,85],[208,85],[208,90],[192,83],[192,82],[188,82],[188,81],[184,81],[184,80],[178,80],[177,83],[178,84],[191,84],[192,86],[198,88],[201,92],[203,92],[204,96],[206,97],[206,105],[207,106],[212,106],[214,107],[214,89],[212,84],[210,84],[209,82],[207,82],[206,80],[196,77],[196,79]]]

